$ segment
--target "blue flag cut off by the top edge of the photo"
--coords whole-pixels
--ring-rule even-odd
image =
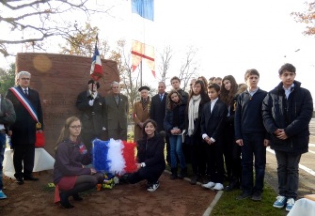
[[[154,21],[154,0],[131,0],[131,12]]]

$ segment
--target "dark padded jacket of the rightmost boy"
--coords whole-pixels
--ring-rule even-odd
[[[263,101],[263,121],[271,134],[271,148],[292,154],[308,152],[309,123],[313,115],[311,93],[301,88],[301,83],[294,81],[294,88],[286,99],[283,83],[267,94]],[[281,140],[274,135],[278,129],[284,129],[288,136]]]

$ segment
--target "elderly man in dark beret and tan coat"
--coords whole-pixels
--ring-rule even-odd
[[[140,139],[142,134],[143,123],[150,118],[151,100],[149,97],[150,88],[142,86],[138,90],[140,92],[140,101],[135,102],[133,108],[133,121],[134,121],[134,141]]]

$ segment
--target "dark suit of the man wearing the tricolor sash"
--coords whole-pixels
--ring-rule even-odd
[[[23,94],[20,86],[18,87],[18,90]],[[11,143],[14,150],[14,176],[16,178],[31,176],[34,167],[36,122],[11,90],[7,91],[5,97],[12,101],[16,113],[16,121],[10,126],[10,130],[12,130]],[[29,95],[27,98],[35,109],[38,121],[42,126],[41,129],[43,129],[43,112],[38,92],[29,88]],[[24,164],[24,174],[22,173],[22,160]]]

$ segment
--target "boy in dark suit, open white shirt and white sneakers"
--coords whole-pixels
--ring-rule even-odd
[[[210,102],[203,107],[201,115],[201,134],[206,142],[207,173],[210,182],[205,188],[222,190],[224,181],[223,165],[223,127],[227,115],[227,106],[220,100],[220,86],[216,83],[208,87]]]

